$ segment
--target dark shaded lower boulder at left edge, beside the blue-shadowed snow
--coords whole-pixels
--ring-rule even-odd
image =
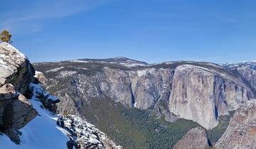
[[[0,131],[19,143],[18,129],[37,116],[25,96],[16,92],[11,84],[0,87]]]

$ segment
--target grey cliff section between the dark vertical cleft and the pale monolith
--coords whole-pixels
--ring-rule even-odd
[[[137,70],[132,77],[132,91],[136,108],[148,109],[156,101],[164,97],[165,92],[171,90],[174,71],[171,69],[150,68]]]

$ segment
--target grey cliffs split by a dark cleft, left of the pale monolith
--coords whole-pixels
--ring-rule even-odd
[[[164,91],[170,90],[173,72],[169,69],[120,71],[104,67],[100,90],[129,107],[148,109]]]

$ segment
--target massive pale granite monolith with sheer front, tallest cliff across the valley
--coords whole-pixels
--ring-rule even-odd
[[[218,125],[218,116],[238,109],[250,89],[237,78],[193,65],[176,67],[169,99],[170,111],[204,128]]]

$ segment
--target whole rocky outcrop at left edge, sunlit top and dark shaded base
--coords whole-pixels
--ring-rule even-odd
[[[18,129],[37,112],[23,94],[34,74],[28,59],[8,43],[0,44],[0,131],[19,143]],[[21,94],[22,93],[22,94]]]

